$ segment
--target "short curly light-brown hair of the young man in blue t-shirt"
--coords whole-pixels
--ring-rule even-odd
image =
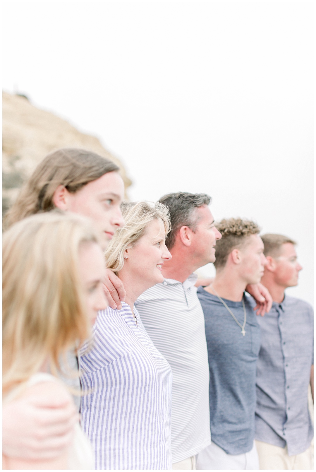
[[[225,266],[229,254],[233,249],[240,248],[247,242],[247,237],[260,232],[257,223],[249,219],[229,218],[222,219],[215,224],[222,238],[216,242],[214,265],[216,269]]]

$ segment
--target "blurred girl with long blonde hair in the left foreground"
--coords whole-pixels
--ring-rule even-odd
[[[51,395],[71,402],[57,377],[59,361],[91,336],[98,310],[107,306],[99,237],[78,215],[33,215],[4,233],[2,260],[4,404]],[[71,436],[71,445],[53,459],[4,455],[3,468],[92,468],[91,446],[78,422]]]

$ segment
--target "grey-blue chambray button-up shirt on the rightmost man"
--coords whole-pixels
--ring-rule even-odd
[[[258,321],[261,348],[257,371],[256,434],[259,441],[304,452],[313,438],[308,384],[314,363],[313,309],[285,296]]]

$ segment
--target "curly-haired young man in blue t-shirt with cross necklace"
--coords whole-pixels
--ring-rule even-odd
[[[254,444],[260,329],[244,290],[264,273],[266,258],[253,221],[223,219],[216,228],[216,277],[198,296],[205,317],[212,444],[198,469],[258,469]]]

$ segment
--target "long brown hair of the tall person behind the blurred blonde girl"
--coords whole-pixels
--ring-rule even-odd
[[[54,192],[64,185],[75,193],[108,172],[118,171],[111,160],[84,149],[65,148],[48,154],[22,186],[4,219],[6,228],[20,219],[55,208]]]

